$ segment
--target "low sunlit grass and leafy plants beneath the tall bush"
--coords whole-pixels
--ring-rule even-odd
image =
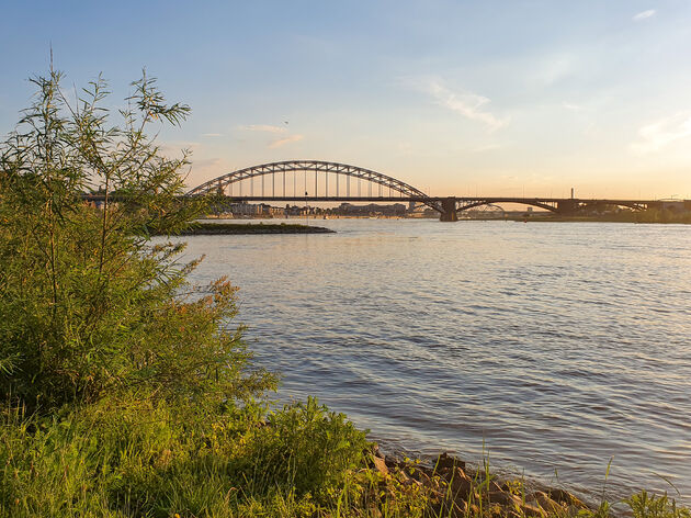
[[[111,398],[52,418],[5,413],[0,516],[314,509],[362,460],[364,433],[314,399],[262,414],[254,405],[181,414],[165,402]]]

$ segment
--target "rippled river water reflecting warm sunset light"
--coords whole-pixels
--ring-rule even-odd
[[[690,226],[310,223],[337,234],[188,238],[193,281],[240,288],[281,401],[317,395],[389,452],[591,498],[612,460],[610,497],[691,503]]]

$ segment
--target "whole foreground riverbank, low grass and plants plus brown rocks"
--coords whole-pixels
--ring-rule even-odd
[[[625,503],[636,518],[690,518],[665,495]],[[107,398],[49,417],[5,409],[0,516],[598,517],[560,488],[529,489],[440,455],[378,455],[344,416],[309,399],[224,413]]]

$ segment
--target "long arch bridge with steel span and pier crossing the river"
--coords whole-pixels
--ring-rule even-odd
[[[580,200],[574,198],[430,196],[381,172],[324,160],[284,160],[260,164],[208,180],[185,195],[223,195],[241,202],[415,202],[440,213],[441,221],[457,221],[458,212],[482,205],[516,203],[558,214],[625,206],[635,211],[655,206],[645,200]]]

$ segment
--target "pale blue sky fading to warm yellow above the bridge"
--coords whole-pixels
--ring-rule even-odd
[[[190,187],[321,159],[432,195],[691,199],[688,0],[0,3],[0,135],[52,47],[69,88],[116,103],[146,68],[192,108],[159,136]]]

